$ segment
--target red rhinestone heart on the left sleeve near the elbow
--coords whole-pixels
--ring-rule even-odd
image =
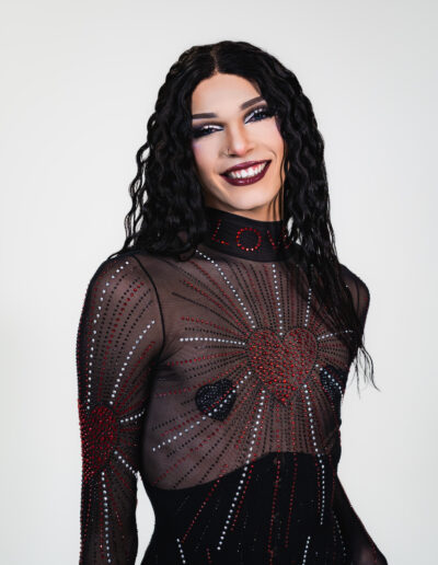
[[[79,410],[82,441],[82,472],[84,482],[102,469],[117,441],[117,420],[112,410],[96,406],[91,414]]]

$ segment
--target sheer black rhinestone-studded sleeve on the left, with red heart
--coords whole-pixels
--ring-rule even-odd
[[[163,345],[157,289],[134,255],[92,277],[77,335],[82,448],[79,563],[135,563],[139,443]]]

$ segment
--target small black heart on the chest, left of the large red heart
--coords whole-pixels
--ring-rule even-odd
[[[223,422],[235,402],[237,392],[230,379],[220,379],[212,384],[204,384],[196,391],[196,406],[210,418]]]

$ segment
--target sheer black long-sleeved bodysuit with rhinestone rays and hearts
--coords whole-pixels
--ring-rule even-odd
[[[381,563],[337,477],[346,346],[279,221],[206,211],[188,261],[130,251],[89,284],[80,563],[135,564],[138,473],[142,565]],[[365,325],[368,288],[343,273]]]

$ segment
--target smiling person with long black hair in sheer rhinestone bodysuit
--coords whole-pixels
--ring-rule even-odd
[[[80,562],[135,563],[139,472],[142,564],[387,563],[337,477],[369,291],[297,78],[247,43],[188,49],[137,162],[78,332]]]

